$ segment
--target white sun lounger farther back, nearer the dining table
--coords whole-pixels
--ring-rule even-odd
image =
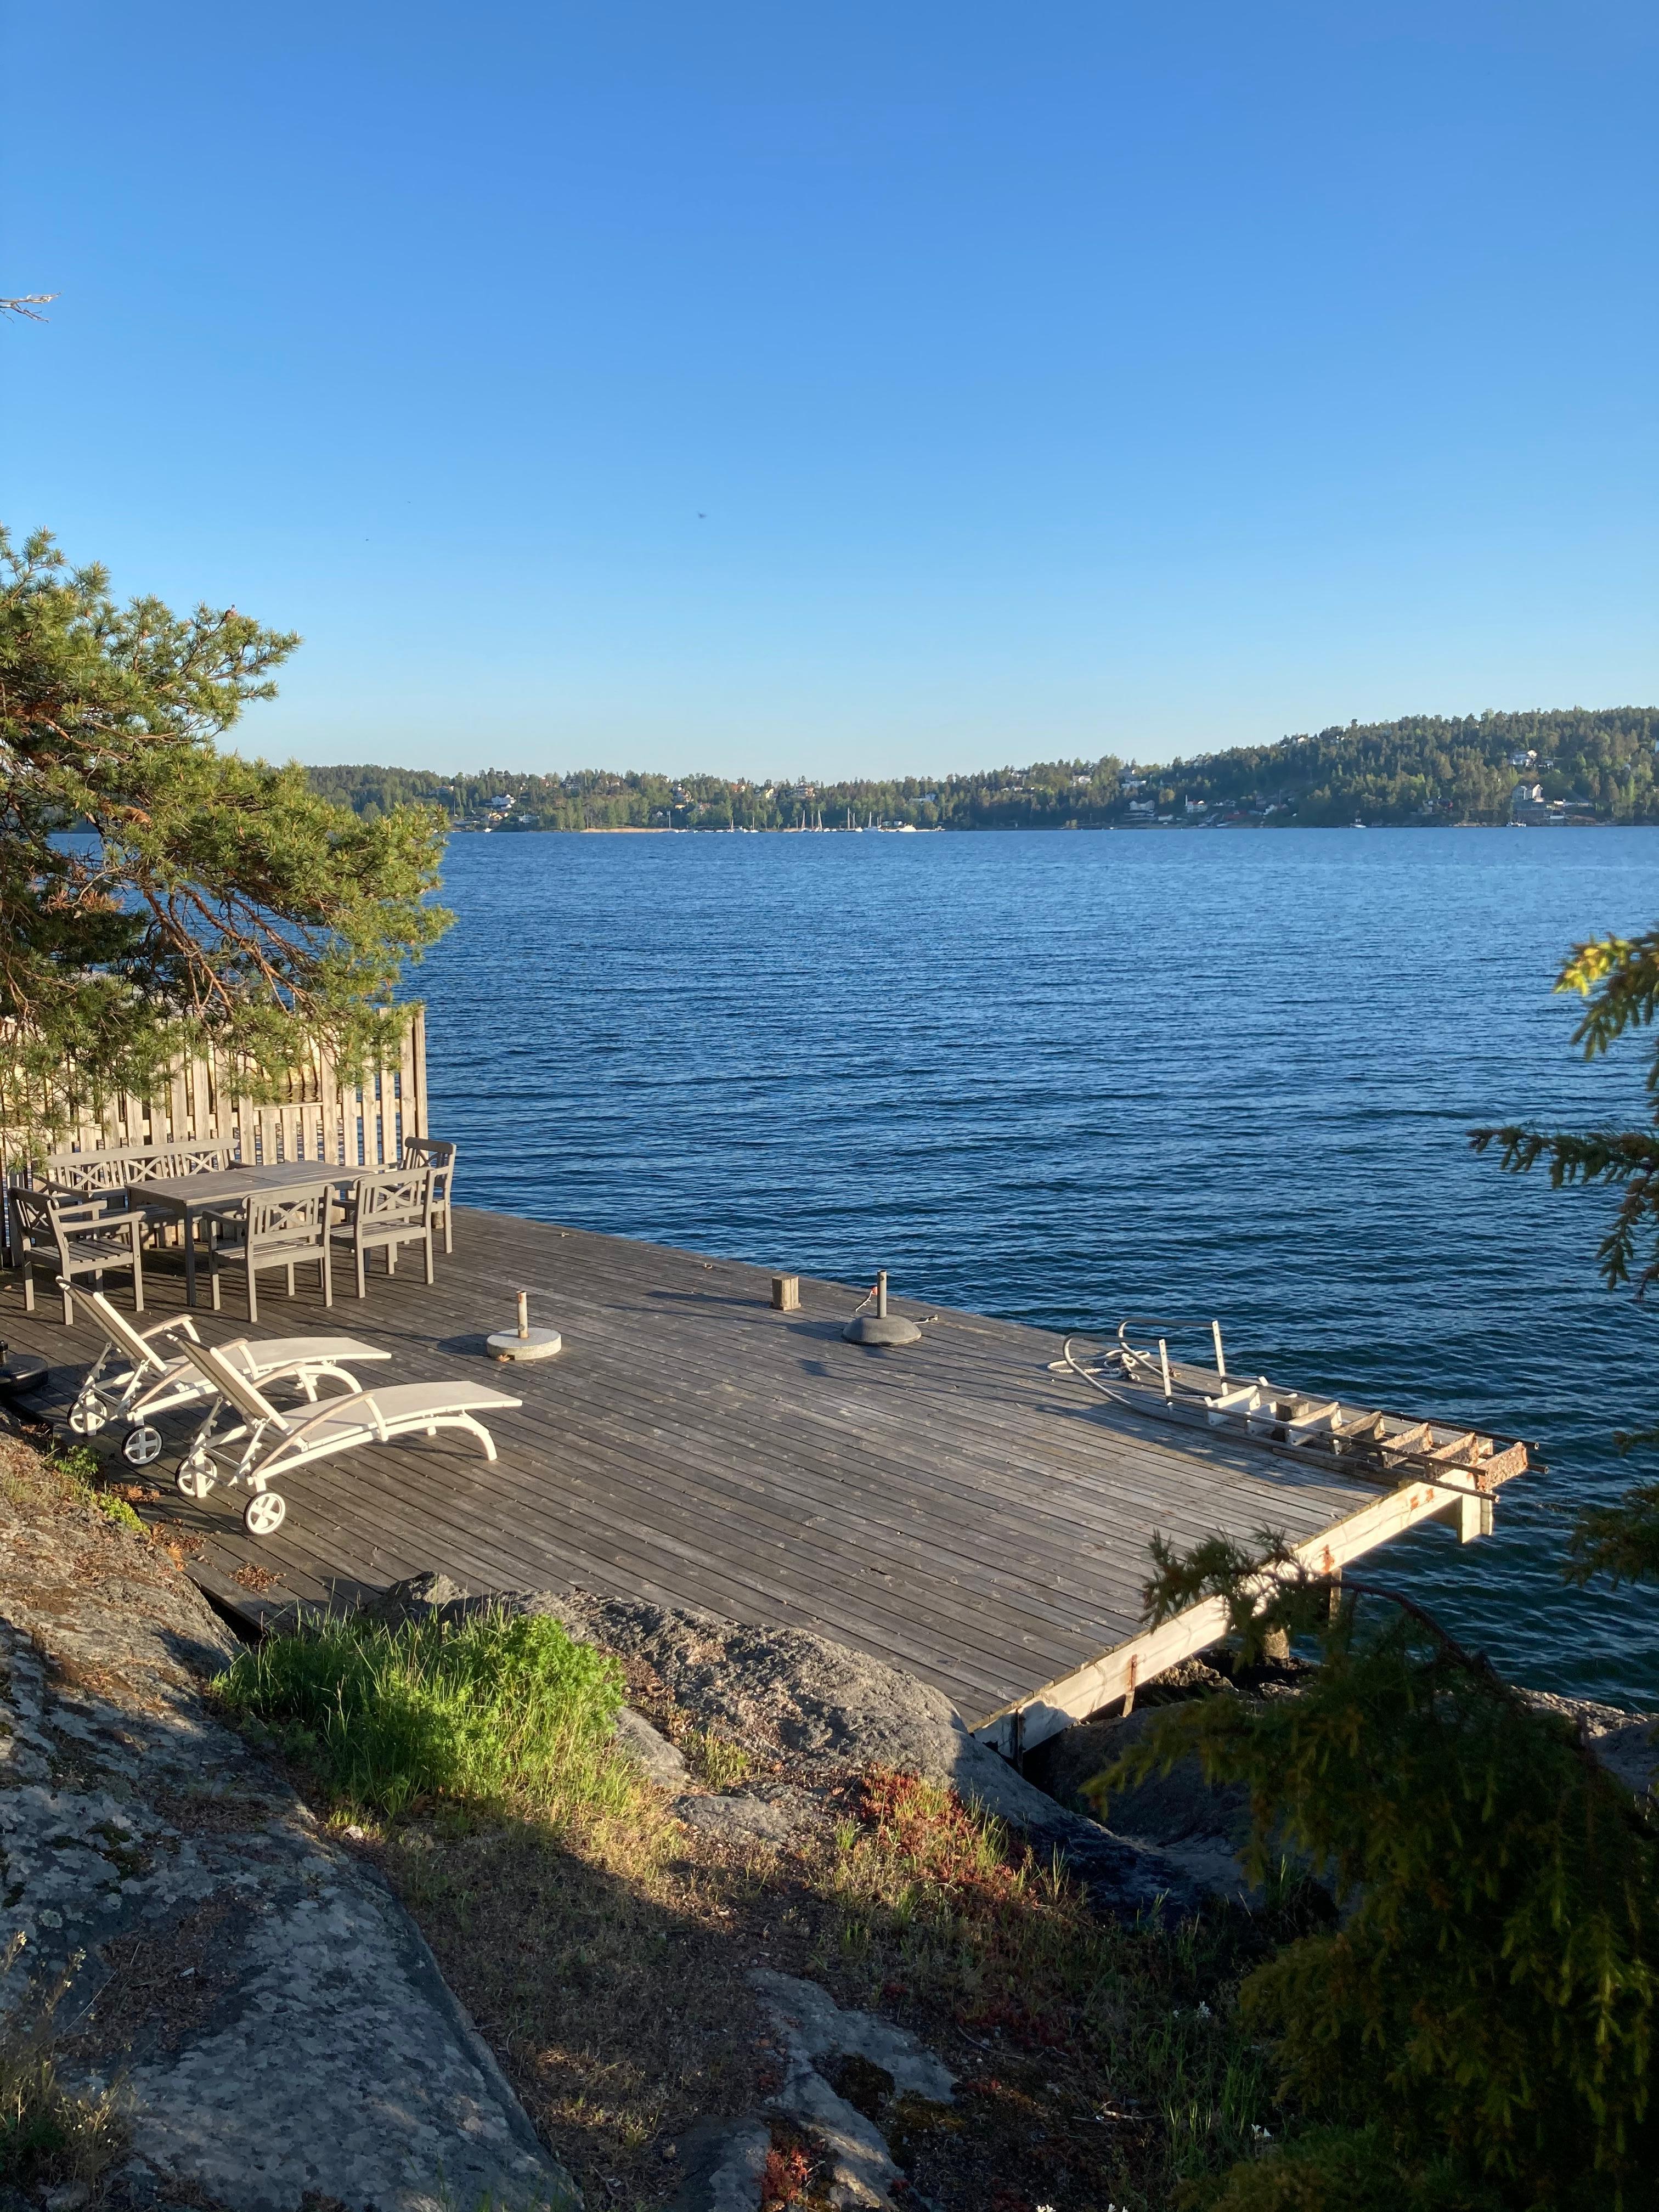
[[[86,1303],[106,1343],[69,1409],[69,1427],[77,1436],[97,1436],[111,1420],[122,1420],[126,1422],[122,1453],[128,1464],[148,1467],[161,1451],[161,1436],[150,1427],[150,1416],[173,1413],[184,1405],[206,1405],[215,1396],[212,1385],[204,1383],[181,1349],[184,1340],[195,1338],[195,1323],[181,1314],[175,1321],[159,1321],[153,1329],[135,1329],[102,1290],[91,1292]],[[219,1354],[246,1380],[292,1383],[312,1405],[323,1376],[343,1383],[347,1391],[358,1391],[363,1385],[349,1367],[392,1358],[389,1352],[361,1345],[356,1336],[239,1336],[230,1345],[219,1345]]]

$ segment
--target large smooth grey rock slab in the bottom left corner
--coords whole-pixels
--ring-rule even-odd
[[[237,1650],[153,1546],[0,1491],[0,2013],[69,1978],[133,2203],[577,2203],[398,1900],[212,1714]],[[177,1995],[124,2013],[135,1947]]]

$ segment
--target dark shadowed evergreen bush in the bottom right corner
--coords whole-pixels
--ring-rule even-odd
[[[1148,1613],[1183,1595],[1270,1610],[1329,1588],[1283,1540],[1183,1555],[1164,1542]],[[1203,2201],[1632,2212],[1659,2170],[1659,1823],[1416,1597],[1343,1590],[1296,1697],[1170,1705],[1088,1785],[1110,1823],[1115,1792],[1194,1759],[1243,1787],[1259,1887],[1296,1860],[1329,1882],[1323,1913],[1314,1900],[1239,1991],[1279,2066],[1285,2146]],[[1360,1632],[1365,1599],[1387,1617]],[[1321,2128],[1371,2174],[1358,2194],[1307,2185],[1301,2152]],[[1449,2192],[1411,2185],[1429,2166]]]

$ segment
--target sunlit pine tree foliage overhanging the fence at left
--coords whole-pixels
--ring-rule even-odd
[[[46,531],[0,529],[0,1128],[31,1141],[186,1046],[259,1093],[385,1048],[442,821],[376,823],[217,739],[299,644],[232,608],[119,606]]]

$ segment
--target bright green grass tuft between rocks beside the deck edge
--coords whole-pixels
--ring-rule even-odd
[[[330,1619],[241,1652],[215,1688],[341,1809],[513,1798],[557,1820],[622,1812],[635,1787],[611,1747],[619,1666],[542,1615]]]

